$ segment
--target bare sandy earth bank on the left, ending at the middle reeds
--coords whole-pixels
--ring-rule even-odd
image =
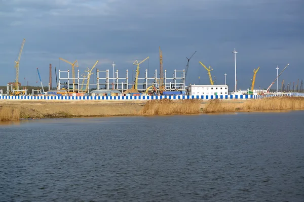
[[[0,120],[16,120],[9,114],[20,113],[19,118],[101,117],[136,115],[144,102],[106,102],[95,100],[1,100]],[[8,113],[10,112],[10,113]],[[18,118],[18,119],[19,119]]]

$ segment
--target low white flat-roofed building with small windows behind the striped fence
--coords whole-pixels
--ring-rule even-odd
[[[227,95],[227,85],[189,85],[189,95]]]

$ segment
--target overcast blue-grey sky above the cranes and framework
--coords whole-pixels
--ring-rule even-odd
[[[304,1],[302,0],[0,0],[0,85],[16,77],[14,61],[25,38],[19,67],[19,82],[48,85],[49,64],[52,82],[57,71],[71,69],[59,57],[78,60],[80,74],[99,60],[96,68],[110,70],[112,62],[125,76],[135,71],[135,60],[153,77],[159,71],[159,46],[167,77],[174,69],[186,68],[186,84],[209,84],[211,66],[216,84],[230,90],[235,86],[234,48],[237,53],[238,89],[267,88],[279,78],[279,87],[304,79]],[[93,71],[94,72],[94,71]],[[94,72],[95,73],[95,72]],[[58,74],[58,73],[57,73]],[[58,76],[58,75],[57,75]],[[200,79],[199,79],[200,77]],[[92,75],[96,79],[95,74]]]

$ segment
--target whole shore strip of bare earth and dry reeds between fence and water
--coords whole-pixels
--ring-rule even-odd
[[[213,100],[0,100],[0,121],[28,118],[102,117],[304,110],[304,97]]]

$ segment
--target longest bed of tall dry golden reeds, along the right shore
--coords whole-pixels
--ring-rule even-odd
[[[250,112],[270,110],[299,110],[304,109],[304,97],[267,97],[262,99],[246,100],[244,103],[223,103],[223,100],[209,100],[204,113],[211,112]]]

